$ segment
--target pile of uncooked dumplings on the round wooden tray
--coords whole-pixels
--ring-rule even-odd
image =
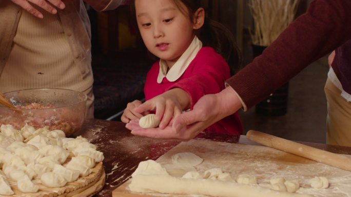
[[[89,175],[95,163],[104,160],[103,153],[87,139],[67,138],[62,130],[35,129],[29,125],[17,130],[12,125],[2,125],[0,131],[2,195],[14,194],[9,182],[16,183],[24,193],[37,192],[38,183],[63,187]]]

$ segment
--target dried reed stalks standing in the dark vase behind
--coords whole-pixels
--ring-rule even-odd
[[[299,0],[249,0],[252,44],[268,46],[294,20]]]

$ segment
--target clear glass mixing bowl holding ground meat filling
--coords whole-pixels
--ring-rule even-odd
[[[0,125],[21,129],[26,124],[35,129],[47,126],[60,129],[66,136],[80,130],[84,122],[87,95],[68,89],[25,89],[4,93],[18,110],[0,106]]]

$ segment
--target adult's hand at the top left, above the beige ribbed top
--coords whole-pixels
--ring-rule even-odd
[[[56,8],[60,8],[60,9],[65,8],[65,4],[61,0],[11,0],[11,1],[17,4],[18,6],[21,6],[24,10],[26,10],[27,12],[33,14],[38,18],[43,18],[44,16],[40,11],[35,9],[32,4],[43,8],[45,11],[51,14],[57,13]],[[53,6],[56,8],[54,8]]]

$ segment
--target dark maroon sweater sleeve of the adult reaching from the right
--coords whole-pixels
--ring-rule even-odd
[[[351,37],[351,1],[315,0],[262,55],[229,78],[247,108]]]

